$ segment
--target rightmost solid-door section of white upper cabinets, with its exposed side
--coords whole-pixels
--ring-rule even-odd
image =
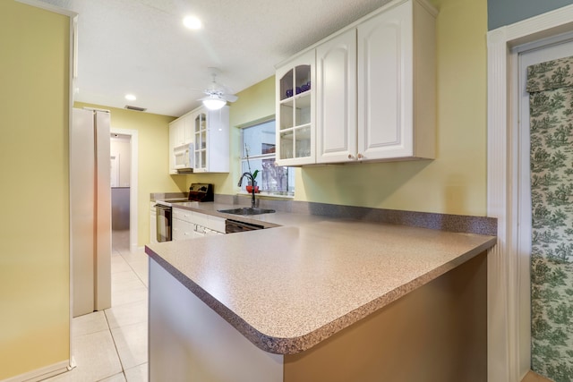
[[[358,25],[359,160],[434,157],[434,29],[418,1]]]

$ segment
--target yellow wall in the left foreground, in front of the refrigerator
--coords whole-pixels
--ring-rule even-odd
[[[69,18],[0,1],[0,380],[69,358]]]

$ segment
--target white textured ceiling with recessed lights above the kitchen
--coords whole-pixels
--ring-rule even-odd
[[[75,99],[183,115],[210,85],[235,92],[389,0],[41,0],[79,13]],[[195,14],[203,29],[187,30]],[[136,101],[126,101],[133,93]]]

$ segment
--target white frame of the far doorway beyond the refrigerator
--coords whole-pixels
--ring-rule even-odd
[[[138,131],[133,129],[116,129],[111,127],[112,134],[122,134],[130,136],[130,147],[132,156],[131,161],[131,171],[130,171],[130,189],[129,189],[129,249],[134,252],[137,250],[138,241],[138,157],[139,157],[139,142],[138,142]]]

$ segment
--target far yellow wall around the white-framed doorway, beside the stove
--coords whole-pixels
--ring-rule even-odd
[[[91,106],[111,112],[111,127],[138,133],[138,245],[150,242],[150,193],[189,191],[185,176],[169,175],[169,125],[175,118],[115,107],[76,102],[74,107]]]

